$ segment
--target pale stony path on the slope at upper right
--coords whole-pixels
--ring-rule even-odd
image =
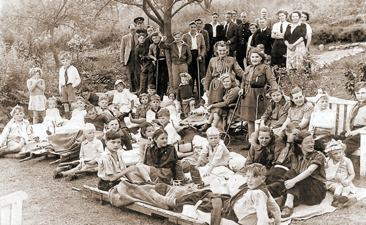
[[[319,67],[323,67],[325,64],[330,64],[337,61],[343,57],[355,55],[364,51],[361,47],[349,48],[343,50],[325,51],[321,54],[316,55],[318,57]]]

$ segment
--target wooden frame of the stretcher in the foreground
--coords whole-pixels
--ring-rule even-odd
[[[82,188],[72,187],[72,189],[79,191],[85,194],[86,196],[91,196],[95,199],[98,199],[101,204],[103,204],[106,201],[109,202],[108,191],[103,191],[96,187],[91,187],[88,185],[84,185]],[[207,222],[182,215],[181,213],[169,211],[166,209],[151,206],[141,202],[135,202],[132,204],[124,205],[122,207],[128,208],[133,211],[138,211],[146,215],[153,215],[153,214],[160,215],[167,218],[169,222],[172,222],[174,224],[208,224]]]

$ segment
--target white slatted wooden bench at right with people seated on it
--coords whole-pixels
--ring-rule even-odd
[[[289,97],[286,97],[289,100]],[[315,96],[313,97],[306,97],[309,102],[315,102]],[[345,100],[338,97],[329,96],[329,107],[330,109],[336,113],[337,120],[335,125],[334,133],[335,135],[339,135],[345,127],[349,124],[346,121],[347,115],[351,113],[351,109],[357,101],[354,100]],[[259,129],[260,119],[256,120],[255,122],[255,130]],[[359,156],[359,175],[360,177],[366,176],[366,130],[360,131],[361,139],[360,139],[360,148],[352,153],[352,155]]]

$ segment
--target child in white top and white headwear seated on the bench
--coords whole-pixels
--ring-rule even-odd
[[[335,130],[337,113],[329,108],[329,95],[324,92],[318,92],[315,96],[314,111],[311,112],[309,132],[315,140],[314,149],[324,152],[325,145],[335,138],[331,135]]]

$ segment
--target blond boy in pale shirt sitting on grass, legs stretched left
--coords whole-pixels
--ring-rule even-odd
[[[95,126],[92,123],[86,123],[84,126],[85,140],[81,142],[79,153],[79,164],[72,169],[62,171],[63,169],[70,168],[69,166],[58,167],[54,170],[54,178],[57,178],[59,174],[61,176],[67,176],[70,181],[75,177],[77,171],[84,171],[87,169],[98,167],[98,159],[103,150],[103,143],[95,136]],[[71,163],[72,164],[72,163]]]

